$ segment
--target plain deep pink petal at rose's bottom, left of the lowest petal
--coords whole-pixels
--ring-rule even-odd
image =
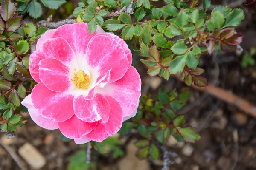
[[[87,123],[72,116],[64,122],[58,122],[61,133],[67,138],[81,138],[90,133],[97,125],[97,122]]]

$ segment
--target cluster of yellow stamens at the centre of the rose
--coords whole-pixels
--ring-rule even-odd
[[[88,89],[88,86],[90,85],[90,77],[82,70],[76,71],[74,74],[74,79],[71,81],[75,82],[76,87],[81,89]]]

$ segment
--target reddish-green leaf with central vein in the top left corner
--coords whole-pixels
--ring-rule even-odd
[[[0,14],[3,20],[7,21],[9,18],[14,16],[16,11],[17,11],[17,8],[15,6],[15,3],[13,3],[11,0],[4,0],[1,3]]]

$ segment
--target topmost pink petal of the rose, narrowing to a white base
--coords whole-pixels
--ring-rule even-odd
[[[86,54],[87,44],[96,34],[96,31],[90,34],[87,29],[87,23],[75,23],[57,28],[53,38],[62,37],[69,43],[76,54]]]

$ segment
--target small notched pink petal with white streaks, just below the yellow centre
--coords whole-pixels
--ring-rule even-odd
[[[85,122],[102,120],[108,122],[110,106],[108,100],[96,93],[91,100],[86,100],[83,95],[74,98],[74,111],[76,116]]]

